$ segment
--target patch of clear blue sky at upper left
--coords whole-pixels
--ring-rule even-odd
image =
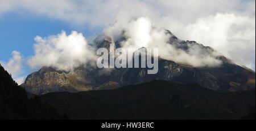
[[[24,57],[34,54],[33,45],[36,36],[47,37],[65,30],[81,32],[85,37],[93,37],[100,29],[72,27],[65,21],[49,19],[45,16],[20,16],[9,13],[0,18],[0,60],[8,61],[13,50],[20,51]]]

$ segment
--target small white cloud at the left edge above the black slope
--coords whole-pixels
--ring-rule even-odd
[[[22,55],[18,51],[13,51],[11,55],[12,57],[9,59],[9,62],[1,63],[6,71],[11,74],[14,80],[18,84],[22,84],[25,78],[24,76],[20,76],[22,74]]]

